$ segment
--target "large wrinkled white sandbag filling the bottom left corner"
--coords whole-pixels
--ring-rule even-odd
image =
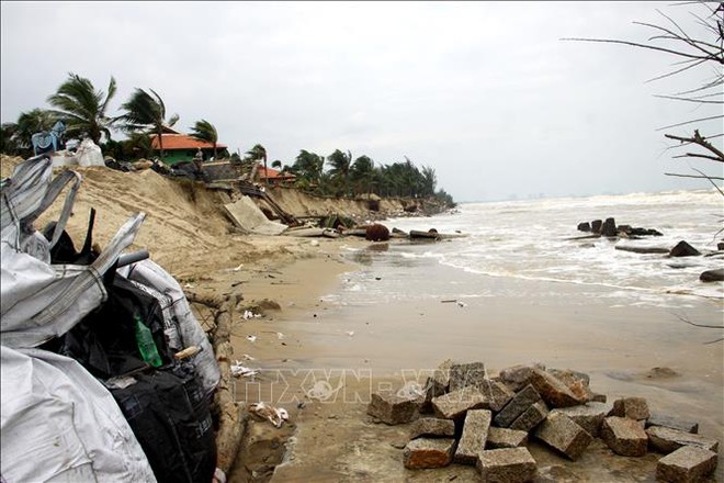
[[[78,362],[2,346],[0,375],[3,481],[156,481],[115,400]]]

